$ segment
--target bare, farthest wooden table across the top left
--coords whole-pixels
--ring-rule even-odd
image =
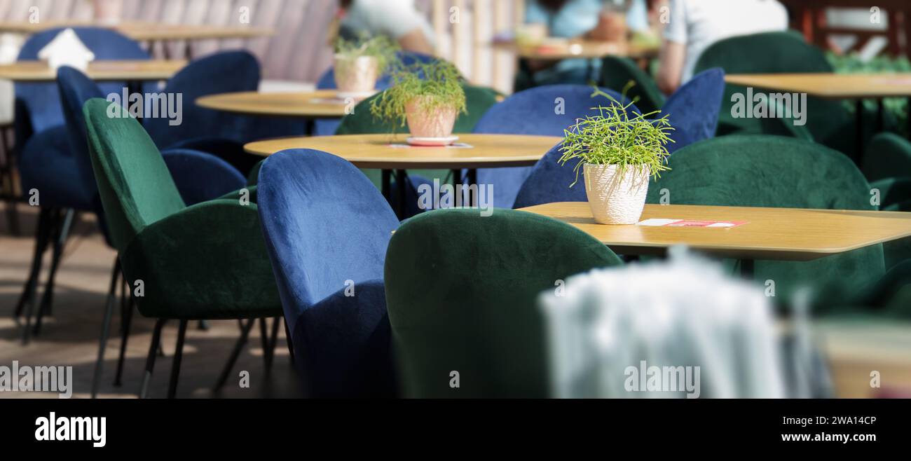
[[[144,21],[124,21],[117,25],[99,24],[94,21],[43,21],[38,24],[29,22],[0,22],[0,33],[32,35],[47,29],[61,27],[103,27],[117,30],[119,33],[138,42],[148,42],[151,49],[156,43],[186,40],[186,57],[192,55],[189,42],[192,40],[226,39],[226,38],[257,38],[271,36],[275,32],[271,29],[238,26],[208,26],[191,24],[162,24]],[[165,58],[168,58],[168,49],[163,46]]]

